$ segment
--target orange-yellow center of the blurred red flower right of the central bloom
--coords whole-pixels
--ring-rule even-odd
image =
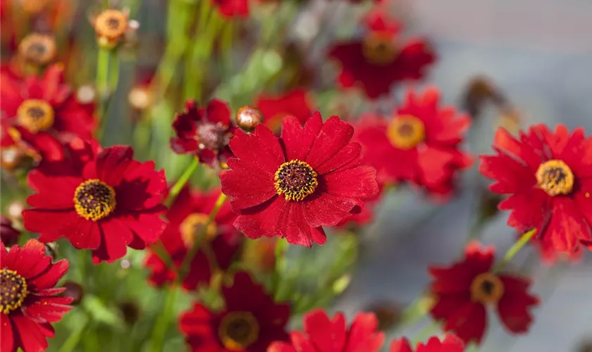
[[[386,135],[390,144],[399,149],[412,149],[424,142],[424,122],[414,115],[398,115],[388,124]]]

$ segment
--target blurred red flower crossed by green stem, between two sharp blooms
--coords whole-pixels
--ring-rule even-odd
[[[175,279],[187,252],[195,241],[199,241],[197,236],[201,233],[219,194],[220,189],[203,193],[197,190],[191,192],[189,187],[185,187],[180,191],[166,213],[169,224],[161,236],[164,248],[175,266],[167,268],[164,260],[156,252],[152,252],[147,257],[146,266],[152,270],[149,280],[153,284],[162,286]],[[223,270],[230,266],[240,244],[239,233],[232,225],[235,218],[235,213],[226,203],[206,230],[206,240],[210,241],[208,246],[211,246],[216,263]],[[191,290],[197,289],[199,284],[209,283],[211,270],[206,253],[198,251],[190,263],[189,272],[183,280],[183,287]]]

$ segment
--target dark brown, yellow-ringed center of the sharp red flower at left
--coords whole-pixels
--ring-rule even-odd
[[[115,210],[115,190],[101,180],[86,180],[74,192],[74,208],[86,220],[98,221]]]

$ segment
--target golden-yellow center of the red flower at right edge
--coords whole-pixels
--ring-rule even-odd
[[[545,161],[536,170],[536,182],[550,196],[566,196],[574,188],[574,173],[563,161]]]

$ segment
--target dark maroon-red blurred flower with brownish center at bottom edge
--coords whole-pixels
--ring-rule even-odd
[[[246,272],[235,275],[232,287],[223,287],[226,308],[210,312],[196,303],[180,318],[180,330],[194,352],[265,352],[272,341],[285,341],[290,306],[274,303],[263,287]]]

